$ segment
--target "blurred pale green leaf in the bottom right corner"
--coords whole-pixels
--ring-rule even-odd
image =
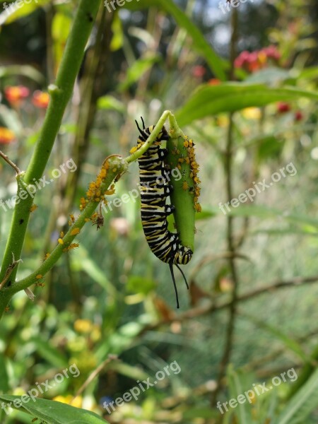
[[[318,407],[318,370],[290,399],[275,424],[306,423],[306,418]]]

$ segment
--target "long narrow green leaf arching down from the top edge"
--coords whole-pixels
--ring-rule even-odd
[[[192,38],[194,50],[196,50],[197,53],[204,57],[206,63],[210,67],[211,71],[213,71],[216,78],[219,78],[221,81],[225,81],[226,76],[224,69],[228,62],[225,62],[223,59],[218,57],[218,54],[216,54],[211,45],[208,44],[199,28],[197,28],[196,25],[192,23],[187,15],[180,8],[178,8],[172,0],[139,0],[138,2],[132,1],[131,3],[126,1],[125,4],[126,8],[133,10],[148,8],[151,6],[158,6],[167,12],[168,16],[173,16],[173,18],[175,18],[179,28],[184,28],[184,30],[187,32],[187,35]]]

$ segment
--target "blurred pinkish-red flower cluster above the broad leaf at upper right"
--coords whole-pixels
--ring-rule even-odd
[[[274,45],[270,45],[254,52],[244,50],[235,59],[234,65],[235,68],[242,68],[247,72],[255,72],[269,64],[278,64],[279,59],[281,59],[281,54],[278,49]]]

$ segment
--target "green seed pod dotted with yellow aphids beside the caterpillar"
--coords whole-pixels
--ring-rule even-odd
[[[173,187],[170,200],[175,206],[173,214],[180,242],[182,246],[189,247],[194,252],[195,213],[201,211],[198,203],[199,166],[194,157],[193,141],[184,136],[182,131],[178,132],[179,136],[172,138],[174,134],[170,131],[170,139],[167,141],[168,155],[165,162],[171,170],[169,184]],[[176,173],[177,178],[174,177]]]

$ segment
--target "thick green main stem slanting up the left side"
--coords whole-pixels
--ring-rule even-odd
[[[43,175],[61,125],[66,105],[73,92],[74,82],[81,66],[84,49],[90,31],[93,28],[99,6],[100,0],[81,0],[79,2],[73,27],[71,28],[71,33],[61,60],[61,66],[57,73],[56,83],[54,86],[49,86],[51,98],[47,114],[45,115],[45,121],[28,169],[24,177],[18,175],[20,183],[24,181],[25,184],[32,184]],[[6,269],[8,269],[8,266],[11,264],[12,255],[14,255],[16,260],[20,259],[32,204],[33,197],[28,196],[26,199],[20,199],[19,203],[16,204],[14,208],[11,229],[4,252],[4,260],[1,265],[0,281],[4,279]],[[23,220],[23,223],[21,223],[21,220]],[[17,269],[18,267],[16,267],[11,274],[11,283],[14,283],[16,279]]]

